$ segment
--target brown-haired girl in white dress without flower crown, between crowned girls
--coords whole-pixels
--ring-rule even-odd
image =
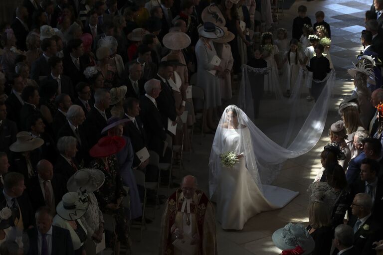
[[[295,86],[299,75],[299,68],[303,65],[302,53],[298,50],[298,40],[291,39],[290,49],[284,54],[282,63],[286,63],[283,81],[286,82],[286,96],[290,97],[291,89]]]

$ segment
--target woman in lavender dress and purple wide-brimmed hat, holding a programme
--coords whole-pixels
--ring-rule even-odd
[[[136,179],[132,172],[132,168],[138,166],[141,160],[135,155],[132,143],[129,137],[123,135],[124,127],[130,119],[119,119],[112,117],[108,119],[108,126],[102,130],[102,133],[108,133],[109,136],[121,136],[125,139],[126,145],[122,150],[117,152],[117,161],[119,165],[119,174],[122,177],[124,186],[129,187],[130,195],[130,212],[132,219],[136,219],[142,215],[141,200],[138,193]],[[146,160],[142,166],[148,163]]]

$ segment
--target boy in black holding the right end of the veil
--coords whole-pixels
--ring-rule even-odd
[[[307,70],[313,73],[311,94],[315,102],[322,93],[327,81],[322,81],[326,78],[327,73],[331,71],[330,62],[323,56],[324,47],[322,44],[315,46],[315,56],[310,59],[310,65],[306,65]]]

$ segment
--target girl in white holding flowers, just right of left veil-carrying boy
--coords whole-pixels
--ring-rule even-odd
[[[273,44],[273,34],[265,32],[262,34],[263,59],[267,62],[267,67],[271,68],[271,72],[265,75],[264,90],[267,96],[272,96],[273,93],[277,97],[282,97],[281,88],[279,87],[278,79],[278,47]]]

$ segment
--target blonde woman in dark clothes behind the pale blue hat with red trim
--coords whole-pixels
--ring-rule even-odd
[[[307,227],[307,231],[315,242],[315,249],[311,253],[312,255],[330,254],[333,231],[329,209],[326,204],[326,196],[317,197],[309,205],[310,225]]]

